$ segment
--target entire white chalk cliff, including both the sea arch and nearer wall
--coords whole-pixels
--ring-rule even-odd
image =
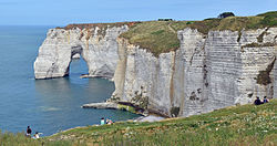
[[[185,29],[178,31],[179,49],[158,58],[119,38],[127,25],[107,28],[104,34],[98,29],[50,30],[34,62],[35,79],[66,75],[79,53],[89,75],[113,77],[110,101],[165,116],[247,104],[256,96],[277,97],[277,28],[207,35]]]

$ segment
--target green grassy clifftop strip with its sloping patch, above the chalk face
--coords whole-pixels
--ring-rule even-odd
[[[203,21],[148,21],[136,23],[121,34],[132,44],[147,49],[155,56],[179,48],[177,31],[185,28],[197,29],[203,34],[211,30],[240,31],[265,27],[277,27],[277,11],[256,17],[229,17],[225,19],[206,19]]]

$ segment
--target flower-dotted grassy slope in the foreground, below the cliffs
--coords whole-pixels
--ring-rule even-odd
[[[173,118],[156,123],[121,122],[113,125],[86,126],[39,140],[24,138],[22,134],[16,136],[2,134],[0,144],[277,145],[276,126],[277,100],[273,100],[259,106],[227,107],[187,118]]]

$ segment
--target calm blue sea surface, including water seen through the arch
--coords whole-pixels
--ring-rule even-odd
[[[34,80],[33,62],[48,29],[53,27],[0,25],[0,129],[52,135],[76,126],[100,124],[101,117],[125,121],[138,115],[114,109],[81,108],[103,102],[114,91],[114,83],[103,79],[80,79],[86,63],[74,60],[70,76]]]

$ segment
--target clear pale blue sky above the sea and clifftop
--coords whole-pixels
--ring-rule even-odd
[[[277,0],[0,0],[0,25],[203,20],[277,11]]]

